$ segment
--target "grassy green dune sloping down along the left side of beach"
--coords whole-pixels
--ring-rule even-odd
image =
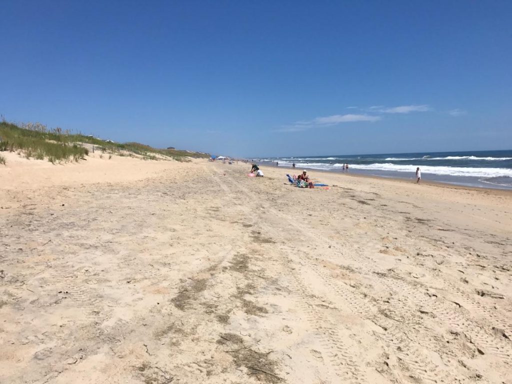
[[[27,159],[47,159],[51,163],[77,162],[88,156],[89,152],[95,151],[110,154],[109,159],[113,154],[143,160],[189,161],[190,157],[209,157],[205,153],[163,150],[136,142],[116,143],[93,136],[71,134],[59,127],[49,129],[41,123],[14,124],[7,121],[0,122],[0,152],[3,151],[17,152]],[[6,164],[4,156],[0,156],[0,164]]]

